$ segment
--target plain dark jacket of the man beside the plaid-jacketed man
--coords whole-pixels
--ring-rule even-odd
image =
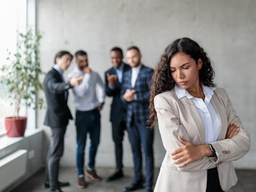
[[[123,68],[123,81],[124,81],[124,73],[129,70],[131,67],[124,63]],[[115,83],[115,86],[113,89],[109,88],[108,86],[108,78],[107,74],[113,75],[116,74],[116,70],[114,67],[109,68],[105,72],[105,86],[106,86],[106,95],[109,97],[113,97],[112,104],[111,104],[111,111],[110,111],[110,121],[112,123],[118,124],[121,122],[122,118],[126,116],[126,104],[122,102],[120,98],[122,83],[120,83],[118,80]]]

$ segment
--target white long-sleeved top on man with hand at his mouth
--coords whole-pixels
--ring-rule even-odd
[[[75,68],[68,75],[68,79],[71,79],[75,75],[84,77],[83,82],[72,89],[76,109],[79,111],[90,111],[98,108],[99,104],[105,100],[104,84],[99,74],[93,70],[91,74],[84,74],[81,70]],[[96,90],[96,88],[98,89]],[[96,93],[96,91],[98,92]]]

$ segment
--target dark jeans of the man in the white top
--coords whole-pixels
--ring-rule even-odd
[[[77,133],[77,175],[84,175],[84,148],[87,133],[90,134],[90,149],[88,168],[95,166],[95,156],[100,143],[100,113],[98,109],[92,111],[76,111],[76,133]]]

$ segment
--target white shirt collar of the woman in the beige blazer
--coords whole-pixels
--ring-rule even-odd
[[[212,95],[214,94],[213,91],[216,88],[213,86],[204,86],[204,85],[202,85],[202,88],[205,94],[205,98],[211,99]],[[182,97],[185,97],[185,96],[188,97],[188,99],[195,98],[192,95],[190,95],[190,93],[187,90],[180,88],[177,84],[175,84],[174,89],[178,99],[181,99]]]

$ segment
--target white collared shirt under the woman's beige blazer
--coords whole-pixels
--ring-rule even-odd
[[[220,134],[220,119],[211,104],[211,98],[214,94],[215,87],[209,87],[202,85],[205,99],[202,100],[197,97],[193,97],[187,90],[184,90],[175,84],[175,93],[178,99],[182,97],[188,97],[193,100],[198,113],[200,114],[205,127],[205,143],[211,143],[217,141]]]

